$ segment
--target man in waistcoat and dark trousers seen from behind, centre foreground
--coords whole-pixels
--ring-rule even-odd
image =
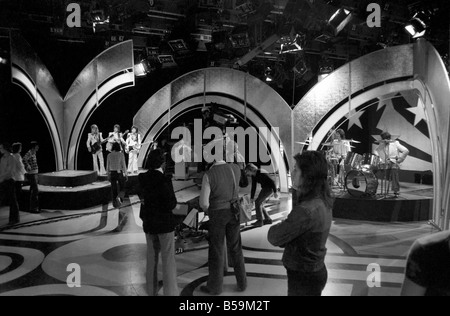
[[[240,232],[240,219],[231,210],[231,202],[238,196],[241,169],[236,164],[216,162],[203,177],[200,207],[209,216],[209,277],[200,290],[219,295],[223,291],[225,268],[225,239],[230,262],[237,281],[236,291],[247,289],[244,255]]]

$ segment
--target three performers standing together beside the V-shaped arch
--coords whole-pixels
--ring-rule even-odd
[[[105,143],[106,150],[110,153],[113,151],[113,145],[119,144],[121,152],[128,154],[128,174],[138,173],[138,157],[142,147],[142,140],[136,126],[131,128],[131,132],[126,131],[125,133],[122,133],[120,125],[115,125],[114,131],[110,132],[106,139],[103,138],[97,125],[94,124],[91,126],[91,132],[88,134],[86,146],[88,151],[92,154],[94,171],[97,171],[100,175],[105,175],[107,173],[102,147]]]

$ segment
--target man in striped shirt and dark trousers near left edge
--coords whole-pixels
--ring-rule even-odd
[[[30,213],[40,213],[39,209],[39,187],[38,174],[39,166],[36,153],[39,151],[38,142],[31,142],[31,148],[23,157],[23,164],[27,171],[27,180],[30,183]]]

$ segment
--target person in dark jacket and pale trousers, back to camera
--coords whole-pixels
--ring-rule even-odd
[[[173,210],[177,199],[170,178],[164,176],[164,154],[152,151],[147,173],[139,175],[142,201],[140,218],[147,239],[147,292],[157,296],[158,262],[161,254],[165,296],[178,296],[177,266],[175,261],[175,226]]]

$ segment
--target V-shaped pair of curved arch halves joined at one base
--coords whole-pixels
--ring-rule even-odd
[[[95,109],[113,93],[134,86],[133,42],[115,45],[92,60],[63,99],[30,45],[11,32],[12,82],[35,102],[53,141],[56,168],[76,169],[81,133]]]

